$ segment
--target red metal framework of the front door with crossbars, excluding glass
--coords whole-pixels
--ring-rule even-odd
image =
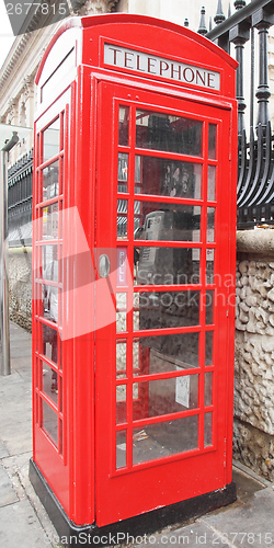
[[[201,326],[197,328],[168,328],[164,330],[150,330],[150,331],[137,331],[133,332],[133,317],[132,312],[127,313],[127,332],[123,332],[116,335],[115,324],[110,324],[104,329],[101,329],[96,333],[96,357],[99,363],[105,362],[112,364],[111,367],[104,369],[96,369],[96,502],[98,502],[98,513],[96,523],[102,526],[114,521],[130,517],[138,513],[149,511],[155,509],[157,505],[167,505],[178,502],[182,499],[187,499],[204,492],[208,492],[212,489],[222,488],[230,478],[231,470],[224,468],[224,454],[225,445],[227,443],[228,432],[228,415],[231,414],[231,381],[227,378],[227,372],[229,370],[229,377],[232,377],[232,367],[224,359],[224,354],[226,355],[229,351],[227,344],[230,346],[232,344],[232,338],[228,341],[229,329],[231,326],[231,317],[227,317],[227,297],[228,292],[233,288],[233,274],[231,270],[232,261],[232,249],[230,248],[231,228],[235,228],[232,218],[230,218],[231,225],[228,228],[227,224],[227,205],[230,202],[229,195],[229,184],[221,185],[220,181],[227,180],[230,175],[230,161],[229,161],[229,149],[222,148],[220,141],[229,141],[229,130],[232,121],[232,114],[229,111],[221,111],[218,107],[208,107],[206,114],[204,113],[204,107],[202,105],[192,104],[187,101],[172,100],[171,98],[165,98],[164,95],[156,95],[146,93],[142,90],[138,90],[138,96],[136,96],[137,91],[128,89],[123,89],[122,87],[112,85],[107,83],[100,83],[101,88],[101,101],[99,102],[101,121],[100,121],[100,137],[99,137],[99,158],[98,158],[98,216],[96,216],[96,242],[99,248],[107,249],[127,246],[129,264],[133,264],[133,217],[128,214],[128,237],[127,240],[116,241],[116,185],[117,185],[117,152],[118,150],[129,153],[128,162],[128,194],[123,193],[119,197],[127,197],[128,199],[128,210],[130,210],[129,202],[133,198],[133,184],[134,179],[130,178],[130,173],[134,174],[134,152],[138,155],[151,155],[158,157],[172,157],[167,152],[155,152],[151,150],[136,149],[134,142],[134,112],[136,109],[136,103],[138,107],[146,107],[147,111],[157,111],[164,109],[168,113],[180,112],[182,115],[185,113],[192,113],[192,117],[197,119],[204,119],[204,150],[203,159],[195,159],[197,163],[203,161],[203,187],[204,194],[201,201],[184,201],[185,203],[195,203],[203,205],[206,203],[206,174],[207,165],[218,165],[218,184],[217,184],[217,196],[215,202],[208,202],[208,206],[216,206],[218,215],[216,215],[216,242],[208,243],[196,243],[192,244],[190,242],[175,242],[178,247],[193,247],[199,248],[202,251],[201,259],[201,272],[202,279],[196,286],[136,286],[134,292],[139,290],[157,290],[163,292],[170,290],[182,290],[190,288],[198,288],[201,292],[205,292],[205,261],[206,261],[206,249],[216,249],[217,261],[215,265],[215,273],[217,274],[218,281],[221,284],[219,287],[216,284],[207,285],[207,289],[215,289],[219,297],[222,298],[222,302],[219,302],[218,307],[215,307],[215,322],[213,326],[206,326],[204,323],[205,309],[201,310]],[[130,96],[130,100],[127,99]],[[118,147],[117,144],[117,104],[128,104],[132,109],[132,140],[128,147]],[[112,127],[113,132],[110,133],[110,113],[112,115]],[[207,160],[206,148],[207,140],[206,129],[208,128],[209,122],[216,122],[218,124],[218,157],[217,160]],[[107,144],[107,145],[106,145]],[[104,185],[103,181],[112,181],[110,199],[104,199]],[[132,189],[130,189],[132,184]],[[137,199],[146,201],[159,201],[159,196],[150,195],[136,195]],[[171,202],[169,198],[163,198],[162,202]],[[175,201],[180,203],[180,198]],[[103,206],[102,206],[103,205]],[[133,210],[133,207],[132,207]],[[235,212],[233,212],[235,213]],[[206,206],[203,208],[202,216],[202,232],[206,232]],[[136,242],[137,243],[137,242]],[[174,246],[174,242],[170,241],[149,241],[150,246],[167,247]],[[147,246],[146,241],[139,241],[138,246]],[[229,252],[228,252],[229,250]],[[216,260],[216,258],[215,258]],[[226,288],[225,282],[228,273],[231,273],[232,285]],[[130,273],[129,273],[130,276]],[[129,282],[129,281],[128,281]],[[130,283],[128,283],[128,287]],[[121,290],[118,288],[117,290]],[[130,293],[130,289],[127,288]],[[225,299],[224,299],[225,297]],[[103,294],[100,294],[96,307],[100,304],[100,299],[103,300]],[[220,300],[220,299],[219,299]],[[230,311],[231,313],[231,311]],[[215,330],[215,355],[214,365],[206,368],[206,372],[215,372],[217,380],[215,380],[214,387],[214,401],[213,406],[207,408],[207,411],[214,411],[215,423],[214,423],[214,441],[213,446],[204,448],[203,450],[195,449],[187,454],[174,455],[172,457],[165,457],[161,461],[149,461],[140,465],[130,465],[132,454],[129,448],[128,461],[129,465],[126,468],[116,470],[115,466],[115,431],[124,431],[125,427],[129,432],[128,441],[132,439],[132,429],[133,427],[144,427],[146,424],[158,423],[167,420],[167,416],[157,416],[152,419],[146,419],[136,421],[132,423],[132,416],[127,415],[127,424],[119,424],[115,427],[115,414],[116,414],[116,401],[115,401],[115,385],[128,385],[133,381],[141,380],[152,380],[156,378],[172,378],[178,376],[174,374],[158,374],[149,377],[137,377],[133,379],[132,374],[127,374],[127,378],[123,380],[117,380],[115,383],[115,339],[121,339],[124,341],[132,340],[133,338],[138,338],[140,335],[159,335],[159,334],[171,334],[180,332],[199,332],[201,333],[201,367],[196,370],[193,369],[192,373],[199,373],[199,408],[198,411],[187,411],[182,413],[176,413],[174,415],[168,415],[170,420],[180,416],[190,416],[199,412],[203,416],[204,410],[204,373],[205,369],[202,367],[203,354],[205,352],[204,346],[204,334],[205,331]],[[129,372],[132,367],[132,357],[129,357]],[[128,390],[128,393],[130,391]],[[225,396],[226,395],[226,396]],[[227,401],[227,406],[224,404],[224,399]],[[110,402],[110,406],[105,406],[105,401]],[[130,397],[128,409],[130,410]],[[230,411],[229,411],[230,409]],[[230,421],[231,422],[231,421]],[[199,447],[203,446],[203,421],[199,421]],[[229,444],[228,444],[229,445]],[[103,447],[111,447],[110,452],[103,452]],[[231,449],[228,449],[228,458],[231,459]],[[205,469],[207,470],[205,475]],[[167,478],[169,480],[167,481]],[[134,493],[134,496],[133,496]],[[146,496],[144,496],[146,493]],[[115,503],[114,503],[115,502]]]

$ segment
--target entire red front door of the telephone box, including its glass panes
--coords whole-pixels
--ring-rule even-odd
[[[231,481],[235,210],[228,106],[105,82],[98,98],[102,526]]]

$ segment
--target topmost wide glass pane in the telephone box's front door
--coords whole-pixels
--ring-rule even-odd
[[[202,156],[203,123],[159,112],[136,111],[136,147]]]

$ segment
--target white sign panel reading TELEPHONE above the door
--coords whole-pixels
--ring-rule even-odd
[[[104,44],[104,64],[121,69],[152,75],[167,80],[220,90],[220,75],[215,70],[179,62],[165,57],[129,49],[115,44]]]

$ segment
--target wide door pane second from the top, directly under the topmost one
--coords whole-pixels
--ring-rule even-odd
[[[201,199],[202,165],[152,158],[136,157],[136,194],[156,194]]]

